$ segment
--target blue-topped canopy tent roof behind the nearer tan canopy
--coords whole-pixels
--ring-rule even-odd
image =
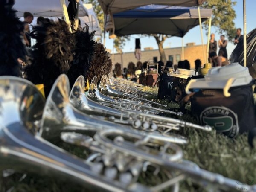
[[[202,22],[212,15],[212,9],[200,9]],[[183,37],[199,25],[195,7],[147,5],[113,14],[115,34],[166,34]]]

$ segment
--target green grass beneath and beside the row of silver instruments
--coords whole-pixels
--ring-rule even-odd
[[[144,87],[145,91],[157,93],[157,88]],[[155,98],[154,101],[157,101]],[[166,108],[179,108],[176,103],[169,103],[164,100],[157,101],[166,104]],[[187,105],[189,110],[190,106]],[[185,114],[182,119],[198,123],[197,120]],[[215,131],[204,132],[185,128],[178,132],[188,138],[189,143],[181,146],[184,159],[191,160],[198,164],[202,169],[221,174],[231,179],[239,180],[242,183],[248,183],[248,180],[256,180],[256,149],[250,148],[247,143],[247,134],[240,134],[235,139],[227,138],[222,134],[216,134]],[[88,151],[84,148],[76,147],[55,141],[55,145],[64,148],[72,154],[81,158],[86,158]],[[153,171],[142,173],[139,177],[140,183],[154,185],[167,179],[166,172],[161,170],[157,176],[153,176]],[[6,191],[11,186],[15,186],[13,192],[85,192],[76,183],[69,180],[59,180],[55,177],[40,176],[28,174],[27,177],[19,182],[21,173],[0,179],[1,192]],[[170,189],[166,189],[166,192]],[[190,180],[181,182],[180,192],[204,192],[205,190],[192,183]]]

